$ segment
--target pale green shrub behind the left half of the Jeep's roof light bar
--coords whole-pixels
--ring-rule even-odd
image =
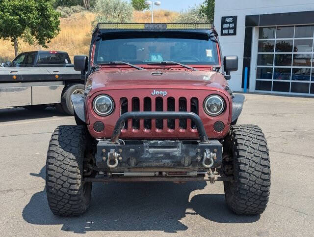
[[[103,23],[128,23],[133,20],[133,7],[126,0],[96,0],[95,22]]]

